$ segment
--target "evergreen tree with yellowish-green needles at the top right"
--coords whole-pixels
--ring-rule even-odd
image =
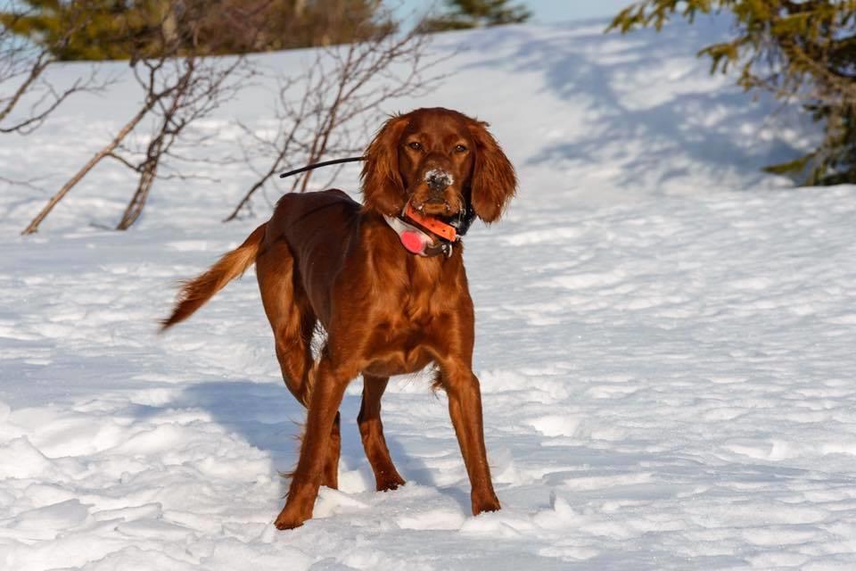
[[[824,122],[817,149],[766,170],[809,185],[856,183],[856,0],[644,0],[615,17],[609,29],[661,29],[679,13],[731,12],[730,41],[705,47],[711,72],[739,69],[745,89],[766,89],[803,102]]]

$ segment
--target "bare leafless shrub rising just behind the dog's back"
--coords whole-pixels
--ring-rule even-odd
[[[421,95],[441,79],[429,72],[436,60],[427,57],[429,36],[411,31],[385,30],[369,41],[333,46],[319,53],[296,79],[281,79],[276,97],[276,134],[259,133],[246,125],[248,148],[271,153],[268,168],[255,170],[259,178],[249,187],[224,221],[248,211],[253,194],[277,172],[323,160],[331,153],[358,153],[368,126],[377,124],[383,103],[407,95]],[[300,85],[297,98],[292,87]],[[285,87],[283,87],[285,86]],[[338,170],[337,170],[338,172]],[[305,191],[311,172],[292,181],[292,191]],[[332,180],[331,178],[331,183]]]

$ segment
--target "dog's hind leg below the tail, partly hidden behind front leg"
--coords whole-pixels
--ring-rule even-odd
[[[276,359],[285,386],[294,398],[309,408],[315,366],[311,343],[317,319],[309,299],[294,279],[293,263],[288,247],[284,243],[276,243],[259,255],[256,275],[265,313],[274,331]],[[339,484],[342,446],[339,418],[336,412],[321,482],[330,488],[337,488]]]

